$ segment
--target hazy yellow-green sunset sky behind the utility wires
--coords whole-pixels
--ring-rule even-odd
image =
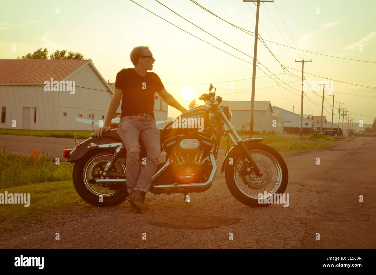
[[[192,99],[198,102],[201,94],[209,92],[211,82],[223,100],[250,101],[254,36],[220,18],[254,33],[256,5],[242,0],[196,1],[218,18],[190,0],[159,2],[176,14],[155,0],[4,2],[0,10],[0,58],[17,59],[41,47],[49,54],[56,49],[79,51],[93,60],[105,80],[115,82],[118,71],[133,67],[129,58],[132,48],[148,45],[156,59],[153,72],[186,109]],[[304,63],[304,77],[311,89],[305,91],[303,114],[321,115],[323,86],[315,87],[314,83],[328,81],[323,111],[327,121],[332,113],[333,97],[329,95],[338,95],[334,98],[334,122],[338,121],[336,102],[343,102],[341,108],[347,108],[355,122],[372,123],[376,117],[376,63],[371,63],[376,62],[375,9],[374,0],[263,3],[258,33],[271,42],[265,41],[269,51],[258,41],[255,100],[270,101],[272,106],[290,111],[294,106],[294,112],[300,114],[302,62],[294,61],[312,59]],[[371,62],[294,50],[273,41]],[[192,91],[192,97],[184,99],[182,91],[185,98],[189,98],[186,91]],[[169,117],[179,114],[168,107]]]

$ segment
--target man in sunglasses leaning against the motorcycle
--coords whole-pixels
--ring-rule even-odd
[[[108,107],[105,124],[95,130],[94,134],[99,138],[110,130],[109,125],[123,97],[117,133],[127,150],[127,200],[130,202],[130,211],[142,212],[148,209],[145,195],[152,183],[161,154],[160,134],[154,118],[155,92],[180,112],[184,113],[186,109],[166,91],[157,74],[147,72],[153,70],[155,62],[148,46],[133,48],[130,60],[134,68],[123,69],[117,73],[115,93]],[[139,142],[147,152],[146,165],[142,168]]]

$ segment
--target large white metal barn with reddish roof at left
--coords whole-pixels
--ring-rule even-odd
[[[0,59],[0,128],[92,130],[75,118],[104,122],[112,96],[90,60]]]

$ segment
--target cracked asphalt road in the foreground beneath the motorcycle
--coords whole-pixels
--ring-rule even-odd
[[[131,213],[124,202],[32,221],[0,230],[0,248],[376,248],[375,138],[281,154],[289,170],[288,207],[252,208],[233,198],[220,174],[221,151],[212,187],[190,193],[190,203],[182,194],[148,192],[147,212]]]

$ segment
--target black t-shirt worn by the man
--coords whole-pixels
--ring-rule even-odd
[[[154,117],[154,94],[164,89],[156,73],[146,72],[140,76],[134,68],[123,69],[116,75],[115,88],[123,90],[121,118],[148,113]]]

